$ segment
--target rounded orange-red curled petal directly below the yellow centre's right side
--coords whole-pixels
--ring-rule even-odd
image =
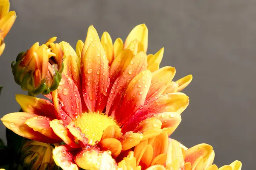
[[[122,150],[122,144],[117,139],[113,138],[105,138],[99,142],[99,147],[101,150],[109,150],[111,151],[111,155],[113,158],[119,156]]]

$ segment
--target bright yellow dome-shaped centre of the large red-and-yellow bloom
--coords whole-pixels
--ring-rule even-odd
[[[75,121],[76,127],[79,127],[82,133],[88,138],[89,144],[95,144],[100,141],[104,130],[111,125],[116,125],[115,121],[105,114],[83,113]]]

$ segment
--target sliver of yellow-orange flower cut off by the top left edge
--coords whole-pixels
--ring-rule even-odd
[[[10,11],[9,0],[0,1],[0,55],[3,53],[5,48],[4,38],[12,28],[12,25],[16,19],[15,11]]]

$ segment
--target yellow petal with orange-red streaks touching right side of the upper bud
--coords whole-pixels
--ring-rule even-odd
[[[68,77],[72,78],[76,86],[80,89],[80,58],[77,56],[76,51],[71,47],[68,42],[62,41],[60,45],[62,51],[64,52],[63,73]]]

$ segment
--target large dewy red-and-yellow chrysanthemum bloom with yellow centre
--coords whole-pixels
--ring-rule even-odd
[[[29,139],[64,141],[66,145],[53,150],[56,164],[64,170],[117,168],[114,159],[121,152],[162,132],[170,135],[189,104],[188,96],[179,91],[192,76],[172,82],[175,68],[158,69],[163,49],[147,56],[147,40],[142,24],[124,45],[120,39],[112,44],[106,32],[100,40],[93,26],[76,51],[61,42],[65,66],[58,89],[47,95],[52,102],[17,95],[24,112],[7,114],[3,124]]]

